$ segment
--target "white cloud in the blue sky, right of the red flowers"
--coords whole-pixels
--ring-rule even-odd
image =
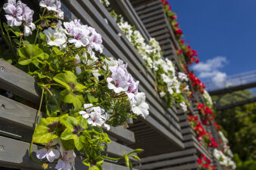
[[[218,87],[223,86],[226,80],[226,73],[220,71],[223,66],[228,63],[226,57],[217,56],[213,59],[209,59],[206,62],[200,62],[192,67],[193,70],[199,73],[201,79],[211,79]]]

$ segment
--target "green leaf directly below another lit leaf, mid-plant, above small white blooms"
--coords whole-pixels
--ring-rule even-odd
[[[83,95],[66,89],[61,91],[61,101],[67,104],[73,104],[74,110],[79,110],[83,104]]]

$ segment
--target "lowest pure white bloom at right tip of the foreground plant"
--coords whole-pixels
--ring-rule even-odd
[[[137,93],[135,97],[130,101],[130,106],[132,107],[133,113],[136,115],[141,115],[143,118],[148,116],[148,104],[145,103],[145,93]]]

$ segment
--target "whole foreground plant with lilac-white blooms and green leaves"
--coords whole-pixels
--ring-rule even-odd
[[[77,150],[86,156],[83,164],[89,170],[101,169],[104,158],[111,159],[103,155],[111,140],[102,128],[126,126],[128,118],[148,116],[145,93],[138,91],[139,81],[128,73],[127,63],[97,56],[104,47],[94,28],[80,20],[62,23],[59,0],[42,0],[39,5],[42,14],[35,25],[27,5],[9,0],[4,5],[8,25],[0,23],[1,35],[11,48],[7,51],[14,53],[4,60],[34,76],[42,88],[39,108],[43,100],[45,118],[36,123],[33,143],[45,147],[36,156],[44,167],[47,161],[58,162],[58,170],[71,170]],[[38,28],[36,34],[33,29],[28,32],[26,26],[31,25]],[[130,162],[132,153],[116,160]]]

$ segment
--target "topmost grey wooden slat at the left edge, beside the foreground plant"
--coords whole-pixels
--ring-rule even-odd
[[[39,103],[35,79],[0,59],[0,88],[11,91],[20,97]]]

